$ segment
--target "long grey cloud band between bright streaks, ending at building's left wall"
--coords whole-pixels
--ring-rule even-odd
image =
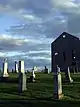
[[[8,52],[8,51],[22,51],[22,52],[28,52],[28,51],[37,51],[37,50],[43,50],[43,49],[49,49],[49,44],[28,44],[24,43],[22,45],[16,45],[8,42],[2,42],[0,43],[0,50],[1,52]]]

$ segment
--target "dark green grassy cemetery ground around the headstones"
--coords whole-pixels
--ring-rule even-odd
[[[64,82],[64,73],[62,73],[63,80],[63,94],[61,100],[53,98],[53,73],[35,73],[36,81],[34,83],[27,83],[27,90],[18,93],[17,73],[10,73],[7,82],[0,83],[0,107],[80,107],[80,74],[71,76],[74,83]],[[26,74],[27,77],[31,73]]]

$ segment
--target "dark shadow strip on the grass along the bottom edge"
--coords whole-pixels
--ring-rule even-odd
[[[45,99],[31,99],[31,100],[5,100],[0,101],[0,107],[80,107],[80,101],[69,100],[45,100]]]

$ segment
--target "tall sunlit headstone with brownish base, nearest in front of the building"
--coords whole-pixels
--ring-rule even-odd
[[[62,79],[60,68],[56,67],[56,72],[54,72],[54,98],[61,99],[63,97],[62,94]]]

